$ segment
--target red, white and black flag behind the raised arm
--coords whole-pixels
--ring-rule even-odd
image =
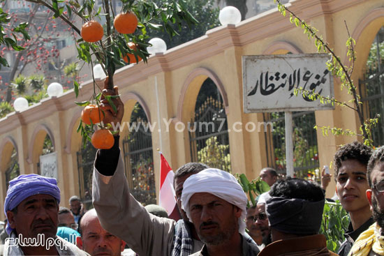
[[[158,204],[163,207],[169,218],[174,220],[180,219],[179,209],[177,209],[175,189],[173,188],[173,173],[163,153],[160,152],[160,195]]]

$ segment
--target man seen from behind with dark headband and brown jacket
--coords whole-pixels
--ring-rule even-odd
[[[318,184],[304,179],[277,181],[265,197],[272,243],[259,256],[336,255],[318,234],[325,196]]]

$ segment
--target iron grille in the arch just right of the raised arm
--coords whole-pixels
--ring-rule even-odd
[[[130,123],[131,133],[123,140],[124,162],[131,194],[143,205],[156,204],[152,134],[147,118]]]

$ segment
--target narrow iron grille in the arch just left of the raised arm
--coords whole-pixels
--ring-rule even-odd
[[[92,146],[91,142],[80,151],[77,151],[77,170],[79,174],[80,198],[86,207],[91,209],[92,206],[92,175],[94,173],[94,161],[96,158],[97,149]]]

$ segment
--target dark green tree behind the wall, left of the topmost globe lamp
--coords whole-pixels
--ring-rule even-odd
[[[156,3],[161,3],[163,0],[156,0]],[[178,31],[178,36],[170,38],[164,36],[163,31],[156,29],[148,29],[148,35],[151,38],[162,38],[167,44],[168,48],[181,45],[182,43],[189,42],[195,38],[203,36],[209,29],[220,26],[219,22],[219,8],[213,5],[214,0],[189,0],[186,1],[186,9],[199,21],[192,27],[189,27],[186,22],[182,22],[182,30]],[[172,25],[175,27],[175,25]]]

